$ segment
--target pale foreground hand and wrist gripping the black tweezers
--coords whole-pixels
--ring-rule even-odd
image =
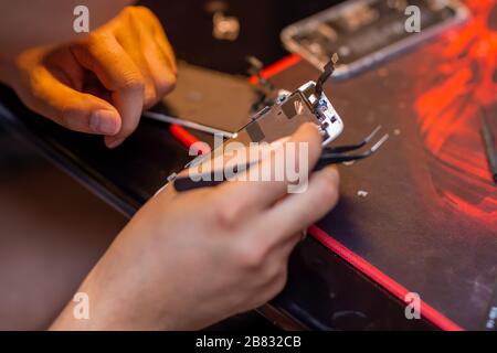
[[[308,142],[310,173],[321,152],[316,127],[303,126],[289,141]],[[330,167],[298,194],[287,194],[287,181],[225,182],[180,194],[169,185],[80,288],[89,296],[91,319],[73,319],[70,304],[53,329],[192,330],[264,304],[283,289],[302,229],[337,203],[338,183]]]

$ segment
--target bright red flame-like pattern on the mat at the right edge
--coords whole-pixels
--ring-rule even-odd
[[[497,224],[497,188],[479,136],[482,108],[497,119],[497,31],[489,26],[497,1],[466,4],[472,12],[468,23],[427,49],[430,56],[442,60],[430,67],[435,79],[420,81],[415,109],[423,142],[435,157],[432,176],[442,201]]]

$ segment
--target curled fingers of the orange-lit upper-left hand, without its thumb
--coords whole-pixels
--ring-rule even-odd
[[[150,10],[128,7],[118,18],[73,47],[77,61],[108,89],[121,129],[106,137],[120,145],[138,126],[144,108],[157,104],[176,85],[172,49]]]

